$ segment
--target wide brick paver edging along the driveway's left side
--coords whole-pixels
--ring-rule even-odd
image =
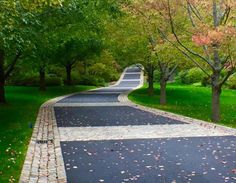
[[[59,100],[74,94],[51,99],[40,107],[21,172],[20,183],[66,182],[53,106]]]

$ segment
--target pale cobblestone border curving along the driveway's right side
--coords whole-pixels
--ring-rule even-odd
[[[134,88],[133,90],[127,91],[127,92],[122,93],[121,95],[119,95],[118,100],[121,103],[124,103],[126,105],[129,105],[129,106],[137,108],[137,109],[141,109],[141,110],[144,110],[144,111],[147,111],[147,112],[151,112],[151,113],[154,113],[154,114],[157,114],[157,115],[160,115],[160,116],[168,117],[168,118],[171,118],[171,119],[174,119],[174,120],[183,121],[183,122],[189,123],[189,124],[198,124],[203,128],[215,129],[215,130],[218,130],[219,132],[224,132],[228,135],[236,136],[236,129],[234,129],[234,128],[230,128],[230,127],[222,126],[222,125],[219,125],[219,124],[214,124],[214,123],[210,123],[210,122],[207,122],[207,121],[182,116],[182,115],[179,115],[179,114],[174,114],[174,113],[171,113],[171,112],[162,111],[162,110],[159,110],[159,109],[154,109],[154,108],[142,106],[140,104],[137,104],[137,103],[134,103],[134,102],[130,101],[128,99],[128,95],[132,91],[134,91],[138,88],[141,88],[143,86],[143,83],[144,83],[144,76],[143,76],[143,72],[142,72],[142,82],[141,82],[141,84],[138,87]]]

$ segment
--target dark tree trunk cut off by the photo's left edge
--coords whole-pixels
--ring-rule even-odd
[[[6,103],[4,59],[4,51],[0,50],[0,103]]]

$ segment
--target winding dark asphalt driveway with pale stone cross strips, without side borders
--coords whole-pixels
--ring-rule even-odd
[[[128,68],[116,85],[56,104],[67,181],[236,182],[235,136],[119,102],[141,78]]]

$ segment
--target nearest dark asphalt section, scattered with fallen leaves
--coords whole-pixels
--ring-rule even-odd
[[[236,182],[236,137],[61,142],[68,182]]]

